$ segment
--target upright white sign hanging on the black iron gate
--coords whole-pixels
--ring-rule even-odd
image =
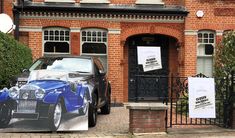
[[[215,118],[215,82],[213,78],[188,78],[189,117]]]

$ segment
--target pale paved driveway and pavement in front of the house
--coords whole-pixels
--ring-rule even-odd
[[[98,115],[96,127],[88,131],[0,133],[0,138],[235,138],[235,130],[213,128],[173,128],[168,133],[132,135],[128,133],[129,111],[124,107],[113,107],[110,115]]]

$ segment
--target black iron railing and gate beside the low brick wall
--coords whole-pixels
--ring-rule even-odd
[[[235,75],[215,79],[216,118],[189,118],[188,78],[179,76],[135,75],[135,100],[163,102],[169,108],[166,112],[166,126],[175,125],[217,125],[231,127],[233,102],[235,101]],[[193,77],[207,78],[203,74]],[[205,84],[206,85],[206,84]],[[146,100],[147,99],[147,100]]]

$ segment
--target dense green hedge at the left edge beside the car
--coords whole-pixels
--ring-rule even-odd
[[[0,88],[32,63],[31,50],[12,36],[0,32]]]

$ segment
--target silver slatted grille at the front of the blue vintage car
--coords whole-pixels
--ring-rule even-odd
[[[19,100],[17,112],[21,113],[35,113],[37,101],[32,100]]]

